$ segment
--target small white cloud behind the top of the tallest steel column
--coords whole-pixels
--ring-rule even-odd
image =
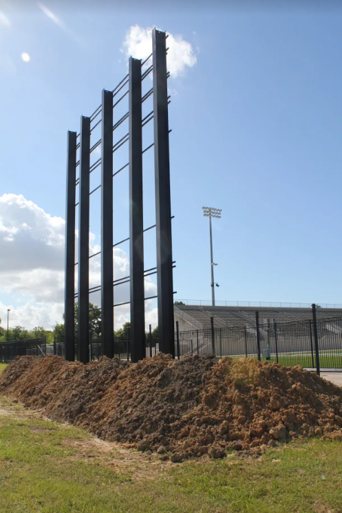
[[[136,59],[146,59],[152,52],[152,28],[142,28],[138,25],[132,26],[127,31],[122,51],[127,57],[131,55]],[[197,62],[193,47],[189,41],[185,41],[182,36],[171,34],[167,39],[169,47],[167,53],[167,68],[171,77],[175,78],[184,74],[186,68],[192,68]]]

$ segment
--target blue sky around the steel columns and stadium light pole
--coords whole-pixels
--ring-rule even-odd
[[[78,131],[101,90],[126,74],[130,28],[157,26],[190,43],[196,59],[169,81],[175,299],[211,296],[206,205],[222,208],[213,221],[217,300],[342,303],[342,10],[212,3],[193,12],[190,4],[158,10],[156,3],[143,12],[135,4],[86,4],[46,0],[52,19],[34,2],[25,9],[0,3],[0,197],[22,194],[52,218],[65,217],[67,130]],[[145,226],[154,219],[152,157]],[[116,241],[128,237],[123,173],[114,185]],[[96,208],[95,199],[91,230],[99,244]],[[2,214],[14,235],[0,237],[0,316],[19,308],[17,323],[48,324],[63,305],[53,293],[30,294],[28,283],[34,289],[41,275],[34,255],[30,279],[21,274],[30,239],[19,250],[12,245],[14,257],[6,249],[15,242],[16,212],[6,205]],[[51,223],[61,239],[63,226]],[[146,268],[155,265],[153,233],[145,257]],[[61,289],[61,276],[55,281]]]

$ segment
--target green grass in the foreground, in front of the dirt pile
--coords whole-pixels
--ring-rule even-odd
[[[0,398],[0,511],[341,513],[342,443],[173,465]]]

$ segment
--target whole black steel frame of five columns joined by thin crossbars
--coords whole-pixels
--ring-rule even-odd
[[[102,105],[91,117],[81,117],[80,141],[74,132],[68,134],[67,161],[67,214],[65,248],[65,336],[66,358],[74,360],[74,298],[78,297],[78,337],[77,359],[83,363],[89,361],[89,292],[101,290],[101,334],[103,353],[109,358],[114,356],[114,281],[113,248],[113,177],[129,167],[129,259],[131,292],[131,359],[138,361],[146,356],[145,350],[145,276],[154,274],[144,271],[144,232],[143,229],[143,193],[142,193],[142,154],[154,146],[155,185],[156,185],[156,245],[157,245],[157,283],[158,283],[158,328],[159,349],[175,356],[173,336],[173,262],[171,237],[171,194],[169,169],[169,119],[167,97],[167,36],[154,29],[152,32],[153,63],[142,74],[142,63],[138,59],[129,59],[129,74],[122,79],[113,92],[103,90]],[[153,71],[153,87],[142,96],[142,80]],[[122,88],[128,90],[115,100]],[[153,93],[153,111],[142,119],[142,103]],[[129,94],[129,112],[113,124],[113,109]],[[102,119],[91,123],[101,114]],[[113,146],[113,130],[126,119],[129,120],[129,133]],[[142,150],[142,126],[153,119],[153,142]],[[102,122],[102,137],[90,147],[91,133]],[[113,153],[129,141],[129,163],[115,173]],[[90,154],[102,143],[102,155],[90,167]],[[76,162],[76,150],[80,148],[79,162]],[[76,166],[79,164],[79,179],[76,180]],[[89,174],[99,165],[101,183],[92,192],[89,191]],[[75,204],[76,186],[79,186],[79,200]],[[101,285],[89,291],[89,195],[101,187]],[[75,261],[75,208],[78,210],[78,291],[74,294]],[[122,243],[121,241],[120,243]],[[145,274],[149,272],[149,274]],[[118,281],[118,280],[116,280]],[[153,296],[154,297],[154,296]],[[126,303],[122,303],[126,304]],[[128,340],[128,339],[127,339]]]

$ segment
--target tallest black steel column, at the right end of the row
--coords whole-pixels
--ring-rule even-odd
[[[153,29],[153,122],[159,350],[175,356],[166,34]]]

